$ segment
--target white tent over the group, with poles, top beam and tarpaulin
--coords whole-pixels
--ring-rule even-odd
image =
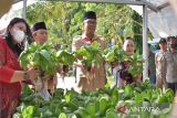
[[[6,0],[8,1],[8,0]],[[23,1],[23,18],[25,18],[27,0],[14,0],[15,2]],[[42,1],[42,0],[30,0]],[[52,1],[52,0],[49,0]],[[144,55],[144,78],[148,76],[148,56],[147,56],[147,28],[155,37],[176,35],[177,26],[176,17],[169,7],[167,0],[53,0],[64,2],[96,2],[96,3],[121,3],[142,7],[143,15],[143,55]],[[133,7],[132,7],[133,8]],[[135,9],[135,8],[133,8]],[[135,9],[137,12],[138,10]]]

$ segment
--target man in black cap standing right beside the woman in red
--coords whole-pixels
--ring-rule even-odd
[[[32,36],[34,39],[34,42],[41,45],[48,41],[48,30],[44,22],[37,22],[32,26]],[[52,94],[56,88],[56,78],[50,77],[50,79],[48,79],[48,82],[45,83],[48,83],[46,89]]]

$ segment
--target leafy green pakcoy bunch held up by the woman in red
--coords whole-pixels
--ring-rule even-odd
[[[51,43],[43,45],[33,43],[21,53],[19,61],[24,69],[32,66],[53,75],[58,66],[55,54]]]

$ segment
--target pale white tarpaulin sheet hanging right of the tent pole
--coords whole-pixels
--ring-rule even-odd
[[[177,35],[177,17],[170,7],[164,8],[159,12],[148,13],[148,28],[154,37],[165,37]]]

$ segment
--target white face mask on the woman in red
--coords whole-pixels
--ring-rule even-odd
[[[21,43],[25,37],[24,32],[20,30],[13,31],[12,36],[17,43]]]

